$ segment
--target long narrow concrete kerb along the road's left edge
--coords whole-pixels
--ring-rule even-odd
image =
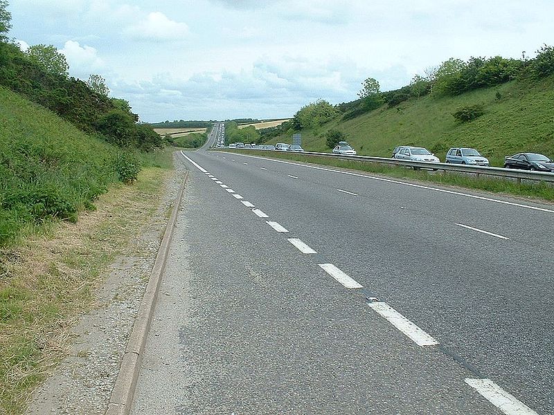
[[[156,261],[154,262],[154,268],[152,268],[152,273],[150,273],[150,280],[146,286],[146,291],[144,293],[141,306],[139,307],[139,313],[136,315],[133,331],[129,337],[129,342],[127,343],[127,349],[125,349],[123,359],[121,360],[119,374],[116,378],[114,389],[111,391],[105,415],[128,415],[131,411],[134,390],[136,388],[136,380],[139,378],[146,338],[148,337],[148,331],[150,330],[152,315],[154,315],[156,299],[161,285],[161,277],[163,275],[163,270],[166,267],[169,246],[173,230],[175,229],[177,213],[179,212],[179,206],[181,205],[181,199],[183,198],[187,178],[188,172],[185,174],[183,184],[181,185],[179,194],[177,194],[177,200],[173,206],[173,210],[168,221],[166,232],[163,234],[158,255],[156,257]]]

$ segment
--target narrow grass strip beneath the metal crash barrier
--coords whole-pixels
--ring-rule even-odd
[[[226,151],[226,150],[218,150]],[[325,165],[339,167],[341,169],[356,170],[359,172],[368,172],[382,174],[393,178],[411,179],[438,183],[441,185],[453,185],[466,189],[485,190],[498,194],[509,194],[524,198],[542,199],[543,201],[554,201],[554,186],[544,182],[537,183],[517,183],[502,178],[491,178],[486,176],[476,177],[457,174],[454,172],[430,172],[428,170],[413,170],[406,167],[397,167],[394,165],[384,165],[378,163],[361,162],[357,160],[343,160],[341,158],[307,156],[299,153],[277,153],[272,151],[233,151],[240,154],[252,154],[266,158],[283,158],[302,163],[316,165]]]

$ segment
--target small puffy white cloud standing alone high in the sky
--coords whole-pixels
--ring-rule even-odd
[[[130,39],[164,42],[182,39],[188,35],[188,26],[168,19],[162,12],[152,12],[138,24],[124,30]]]

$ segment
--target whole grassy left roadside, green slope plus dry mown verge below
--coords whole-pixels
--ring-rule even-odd
[[[0,251],[0,413],[21,414],[66,353],[69,327],[93,306],[102,272],[157,209],[171,158],[151,154],[134,185],[119,183],[109,167],[115,147],[1,88],[0,147],[0,228],[9,233]],[[64,221],[33,216],[32,203],[6,211],[6,199],[26,194],[76,210]]]

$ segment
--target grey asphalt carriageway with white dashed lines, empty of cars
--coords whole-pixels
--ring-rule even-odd
[[[183,163],[133,414],[554,413],[554,206]]]

